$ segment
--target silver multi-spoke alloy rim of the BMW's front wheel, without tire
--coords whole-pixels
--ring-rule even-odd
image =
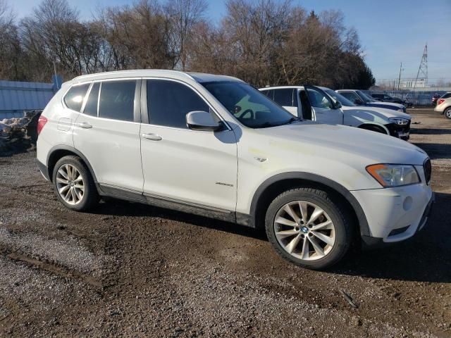
[[[273,228],[280,246],[304,261],[323,258],[335,244],[335,226],[329,215],[309,201],[291,201],[282,206]]]

